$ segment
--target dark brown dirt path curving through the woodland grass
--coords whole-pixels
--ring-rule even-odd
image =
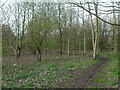
[[[100,71],[101,67],[109,61],[108,58],[97,56],[100,61],[81,72],[75,71],[73,74],[81,73],[80,75],[76,75],[73,78],[70,78],[66,80],[65,82],[61,83],[62,88],[87,88],[90,85],[93,85],[94,82],[92,79],[95,77],[95,75]]]

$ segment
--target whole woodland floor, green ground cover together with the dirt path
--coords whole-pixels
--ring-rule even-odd
[[[105,55],[100,54],[96,60],[89,55],[57,56],[30,66],[20,63],[8,66],[4,62],[3,88],[117,88],[117,59]]]

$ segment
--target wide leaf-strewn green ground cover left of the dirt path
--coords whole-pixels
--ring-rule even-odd
[[[84,60],[65,57],[57,61],[56,59],[44,60],[31,66],[3,66],[2,86],[3,88],[57,87],[59,82],[75,76],[71,72],[86,68],[97,61],[89,56]]]

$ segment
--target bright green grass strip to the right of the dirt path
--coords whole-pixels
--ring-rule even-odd
[[[111,60],[101,69],[95,78],[97,87],[117,88],[118,86],[118,57],[113,53],[100,53],[99,55],[108,57]],[[93,86],[94,87],[94,86]]]

